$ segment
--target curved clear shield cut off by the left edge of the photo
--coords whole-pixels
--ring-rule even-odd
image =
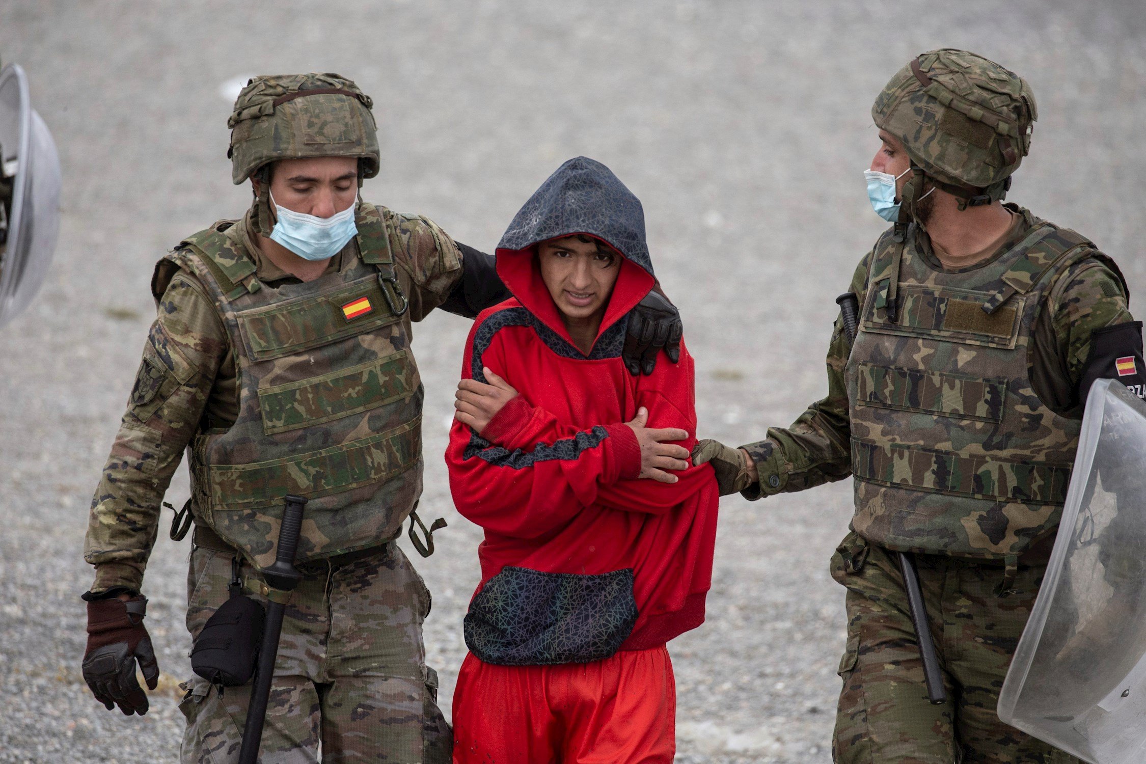
[[[24,70],[0,70],[0,326],[47,275],[60,230],[60,159],[29,101]]]

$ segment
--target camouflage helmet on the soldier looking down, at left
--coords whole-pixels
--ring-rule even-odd
[[[256,77],[235,100],[230,127],[231,180],[246,182],[277,159],[356,157],[363,178],[378,174],[374,102],[339,74]]]

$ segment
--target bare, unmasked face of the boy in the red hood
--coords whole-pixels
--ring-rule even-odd
[[[549,296],[566,318],[603,313],[621,273],[621,255],[584,235],[539,244],[537,263]]]

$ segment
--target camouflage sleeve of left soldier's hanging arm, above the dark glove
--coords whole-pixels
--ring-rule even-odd
[[[139,591],[159,527],[159,506],[198,426],[228,348],[214,306],[179,273],[159,300],[127,411],[92,498],[84,559],[93,592]]]

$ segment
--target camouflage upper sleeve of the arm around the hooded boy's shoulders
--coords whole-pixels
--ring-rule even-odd
[[[398,277],[410,301],[410,321],[422,321],[446,301],[462,278],[462,253],[438,223],[395,213],[391,245]]]

